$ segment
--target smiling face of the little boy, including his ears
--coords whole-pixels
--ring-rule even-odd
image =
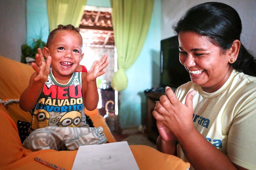
[[[84,57],[82,43],[81,37],[75,31],[56,33],[48,47],[48,55],[52,57],[52,73],[55,78],[69,78],[77,69]]]

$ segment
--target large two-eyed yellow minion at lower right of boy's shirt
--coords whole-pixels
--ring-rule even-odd
[[[78,111],[70,111],[60,118],[60,122],[57,123],[57,125],[59,127],[80,127],[81,122],[81,113]]]

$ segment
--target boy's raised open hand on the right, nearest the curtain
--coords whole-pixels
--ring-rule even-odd
[[[96,60],[95,62],[93,62],[91,69],[87,73],[87,82],[95,81],[97,77],[106,73],[106,70],[103,69],[105,69],[109,63],[107,58],[108,55],[103,55],[100,61]]]

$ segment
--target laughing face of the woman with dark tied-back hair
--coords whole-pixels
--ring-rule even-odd
[[[180,63],[193,83],[205,92],[215,92],[228,80],[232,67],[229,56],[208,37],[196,32],[179,33]]]

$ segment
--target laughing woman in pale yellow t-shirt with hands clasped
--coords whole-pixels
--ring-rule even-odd
[[[167,87],[156,103],[157,148],[177,153],[190,169],[256,169],[256,62],[240,42],[238,13],[203,3],[173,29],[192,81],[175,94]]]

